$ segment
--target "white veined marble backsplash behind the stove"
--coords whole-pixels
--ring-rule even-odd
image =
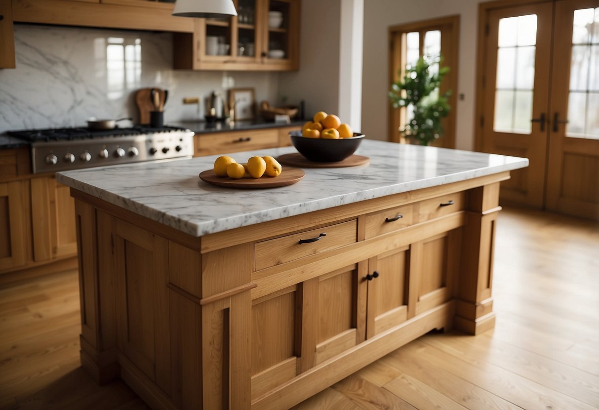
[[[14,35],[17,68],[0,69],[0,133],[83,126],[90,117],[137,123],[135,90],[144,87],[169,91],[166,123],[203,118],[204,104],[183,98],[213,90],[252,87],[256,102],[277,102],[274,72],[174,70],[171,33],[15,25]]]

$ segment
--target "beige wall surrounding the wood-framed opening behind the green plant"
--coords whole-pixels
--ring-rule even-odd
[[[459,14],[459,69],[456,148],[474,147],[474,77],[476,75],[477,13],[479,0],[365,0],[364,68],[362,77],[362,132],[373,139],[387,138],[389,99],[388,28],[401,23]]]

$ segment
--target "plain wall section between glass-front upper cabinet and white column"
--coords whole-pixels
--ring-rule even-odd
[[[305,102],[305,115],[337,114],[341,0],[302,0],[299,71],[279,74],[279,97]]]

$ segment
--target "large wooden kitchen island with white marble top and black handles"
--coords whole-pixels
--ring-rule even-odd
[[[499,184],[528,160],[356,154],[370,164],[251,191],[199,180],[216,156],[60,173],[84,368],[153,408],[289,408],[432,329],[491,328]]]

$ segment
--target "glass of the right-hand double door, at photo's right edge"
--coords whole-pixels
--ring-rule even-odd
[[[567,137],[599,139],[599,7],[574,10]]]

